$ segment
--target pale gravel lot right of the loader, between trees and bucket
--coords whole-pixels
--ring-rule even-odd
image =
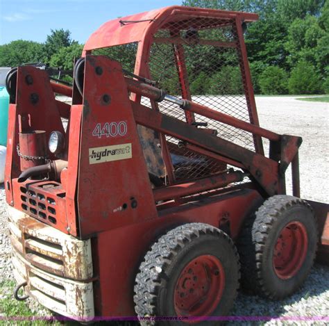
[[[256,97],[260,125],[277,133],[301,136],[301,197],[329,202],[329,104],[296,97]],[[290,174],[287,175],[289,191]]]

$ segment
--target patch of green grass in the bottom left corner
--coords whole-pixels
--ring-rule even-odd
[[[13,281],[0,282],[0,316],[2,318],[2,320],[0,318],[0,325],[27,326],[31,325],[31,323],[37,326],[49,325],[50,323],[46,320],[40,320],[42,317],[38,316],[35,311],[31,311],[25,301],[17,301],[12,297],[14,288],[15,282]],[[51,315],[50,312],[49,315]],[[36,317],[36,320],[32,320],[33,317]],[[22,318],[22,320],[15,320],[15,318]],[[58,322],[52,322],[51,324],[61,325]]]

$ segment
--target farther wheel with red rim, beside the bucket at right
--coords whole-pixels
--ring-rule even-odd
[[[312,268],[317,241],[317,222],[307,202],[270,197],[246,220],[237,239],[242,288],[276,300],[291,295]]]

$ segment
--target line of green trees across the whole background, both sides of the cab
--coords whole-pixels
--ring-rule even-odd
[[[329,0],[184,0],[183,6],[260,15],[257,22],[248,24],[244,35],[256,94],[329,93]],[[0,66],[42,62],[70,70],[82,49],[82,44],[71,40],[69,31],[51,30],[44,43],[16,40],[1,45]],[[133,47],[118,47],[104,53],[133,69]],[[219,56],[211,53],[197,60],[201,65],[212,65],[210,58],[219,60]],[[221,58],[225,61],[223,54]],[[187,70],[192,72],[193,94],[217,94],[219,88],[227,94],[242,92],[237,65],[223,65],[210,75],[205,70],[194,71],[193,64],[187,62]],[[170,83],[168,88],[170,91]]]

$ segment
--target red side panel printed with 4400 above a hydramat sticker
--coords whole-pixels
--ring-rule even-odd
[[[87,56],[78,174],[81,237],[155,218],[121,65]]]

